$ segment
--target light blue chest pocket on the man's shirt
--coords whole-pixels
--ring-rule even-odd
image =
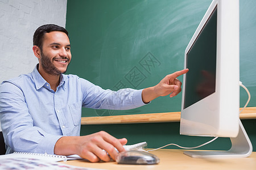
[[[81,109],[82,109],[81,102],[69,104],[68,108],[69,108],[69,111],[71,113],[73,124],[75,126],[80,125],[80,123],[81,123]]]

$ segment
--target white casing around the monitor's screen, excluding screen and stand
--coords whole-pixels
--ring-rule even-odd
[[[236,1],[236,2],[235,2]],[[185,49],[187,53],[209,16],[217,6],[216,91],[184,109],[184,84],[181,103],[180,134],[236,137],[239,130],[239,1],[214,0]],[[189,68],[188,68],[189,69]]]

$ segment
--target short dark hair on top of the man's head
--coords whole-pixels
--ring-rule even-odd
[[[44,39],[44,35],[46,33],[52,32],[52,31],[60,31],[60,32],[64,32],[67,34],[68,36],[68,31],[67,29],[60,27],[59,25],[55,25],[55,24],[46,24],[46,25],[42,25],[40,27],[38,27],[38,29],[36,29],[34,36],[33,36],[33,45],[36,45],[39,47],[40,50],[42,50],[42,45],[43,45],[43,39]]]

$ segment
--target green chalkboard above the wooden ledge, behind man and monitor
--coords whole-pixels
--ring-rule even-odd
[[[184,50],[210,2],[68,1],[66,28],[72,62],[67,74],[79,75],[104,89],[154,86],[167,74],[183,69]],[[249,106],[256,105],[255,6],[255,1],[240,1],[240,77],[252,95]],[[241,90],[241,106],[246,100],[247,94]],[[172,99],[159,97],[129,111],[85,108],[82,116],[176,112],[180,108],[181,94]]]

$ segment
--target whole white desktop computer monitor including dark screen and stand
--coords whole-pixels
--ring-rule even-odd
[[[189,156],[241,157],[252,151],[239,118],[239,27],[239,0],[213,0],[185,49],[189,71],[183,77],[180,134],[232,141],[229,151],[184,152]]]

